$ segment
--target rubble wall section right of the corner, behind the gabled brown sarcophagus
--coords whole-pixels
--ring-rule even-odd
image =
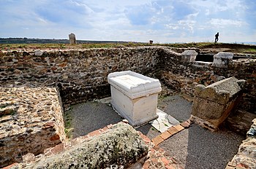
[[[217,82],[220,76],[245,79],[247,82],[244,97],[238,108],[256,114],[256,59],[232,60],[227,68],[218,68],[212,66],[212,63],[184,63],[181,61],[181,54],[172,51],[162,50],[159,55],[159,65],[162,68],[158,78],[178,92],[194,95],[197,84],[212,84]]]

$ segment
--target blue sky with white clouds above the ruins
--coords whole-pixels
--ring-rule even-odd
[[[0,0],[0,37],[256,42],[255,0]]]

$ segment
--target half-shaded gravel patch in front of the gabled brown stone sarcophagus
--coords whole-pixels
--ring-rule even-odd
[[[243,140],[229,130],[212,133],[194,124],[159,146],[183,168],[225,168]]]

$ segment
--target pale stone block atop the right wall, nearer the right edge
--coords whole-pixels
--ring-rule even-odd
[[[214,64],[213,66],[219,68],[227,68],[230,60],[233,60],[232,52],[219,52],[217,55],[214,55]]]

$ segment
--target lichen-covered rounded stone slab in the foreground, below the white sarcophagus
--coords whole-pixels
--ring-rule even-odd
[[[101,135],[59,154],[39,157],[13,168],[127,168],[146,157],[148,146],[130,125],[118,123]],[[33,158],[32,158],[33,159]]]

